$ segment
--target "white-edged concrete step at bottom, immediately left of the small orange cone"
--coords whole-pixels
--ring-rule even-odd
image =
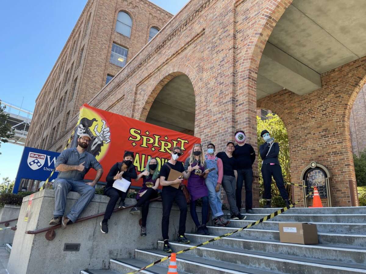
[[[121,259],[121,260],[110,260],[109,263],[110,263],[110,267],[109,267],[110,271],[113,271],[112,272],[113,274],[116,274],[116,273],[126,274],[126,273],[129,273],[132,271],[139,270],[142,267],[147,266],[151,262],[142,261],[142,260],[138,260],[138,259]],[[168,267],[165,267],[165,266],[163,267],[162,263],[160,263],[155,266],[149,267],[146,270],[142,270],[139,273],[167,274],[167,271],[168,271]],[[112,274],[112,273],[110,273],[110,274]],[[179,271],[179,274],[188,274],[188,273]]]

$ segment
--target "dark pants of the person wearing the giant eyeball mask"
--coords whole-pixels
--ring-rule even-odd
[[[242,189],[243,181],[245,186],[245,209],[250,210],[253,207],[253,169],[239,169],[238,181],[236,181],[236,206],[240,212],[242,208]]]

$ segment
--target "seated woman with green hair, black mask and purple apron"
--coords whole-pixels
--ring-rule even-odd
[[[139,207],[142,207],[142,223],[141,223],[141,236],[146,236],[146,219],[149,213],[150,200],[157,198],[157,188],[159,187],[159,171],[158,162],[156,158],[150,158],[146,163],[146,169],[143,170],[135,179],[143,180],[142,188],[136,196],[137,204],[131,208],[131,214],[140,214]]]

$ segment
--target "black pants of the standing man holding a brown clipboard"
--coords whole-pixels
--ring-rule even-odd
[[[161,192],[161,198],[163,199],[163,219],[161,220],[163,240],[169,239],[169,215],[173,202],[178,204],[180,210],[178,234],[184,235],[186,232],[187,201],[183,191],[180,188],[176,189],[173,186],[164,186],[163,191]]]

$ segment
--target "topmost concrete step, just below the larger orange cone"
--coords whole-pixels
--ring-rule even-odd
[[[281,208],[253,208],[253,211],[256,214],[271,214],[279,209]],[[242,213],[245,213],[244,209],[242,209]],[[366,207],[293,207],[282,214],[366,214]]]

